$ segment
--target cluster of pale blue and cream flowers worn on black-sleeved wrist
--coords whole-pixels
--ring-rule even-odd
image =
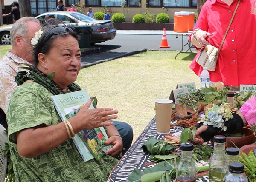
[[[221,130],[226,131],[227,127],[224,122],[232,119],[237,109],[231,108],[228,103],[218,105],[213,105],[212,108],[209,108],[204,114],[199,114],[200,121],[198,123],[203,123],[203,125],[212,125],[213,127],[221,128]]]

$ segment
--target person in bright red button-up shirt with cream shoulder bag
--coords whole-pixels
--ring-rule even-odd
[[[219,47],[238,0],[207,0],[202,6],[189,40],[196,48]],[[209,71],[212,82],[224,85],[256,84],[256,14],[255,0],[241,0],[221,48],[215,71]],[[198,76],[203,68],[192,61]]]

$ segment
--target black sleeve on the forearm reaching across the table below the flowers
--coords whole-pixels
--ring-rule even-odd
[[[225,121],[225,126],[227,126],[227,130],[221,130],[221,128],[213,127],[212,125],[208,125],[207,129],[203,131],[200,136],[204,139],[204,142],[209,141],[215,135],[223,135],[230,131],[240,129],[244,126],[243,119],[238,114],[232,114],[234,117],[228,121]],[[198,123],[195,125],[196,128],[202,126],[203,123]]]

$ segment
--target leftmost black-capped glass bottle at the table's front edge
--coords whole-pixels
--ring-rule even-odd
[[[180,163],[176,169],[176,182],[195,182],[196,168],[192,160],[193,145],[189,142],[180,144]]]

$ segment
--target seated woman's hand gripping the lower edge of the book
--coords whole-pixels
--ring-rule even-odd
[[[123,148],[122,137],[113,135],[113,136],[109,137],[109,139],[107,139],[104,142],[104,144],[105,145],[110,145],[110,144],[113,145],[113,147],[107,151],[106,155],[116,156],[118,154],[121,154],[122,148]]]

